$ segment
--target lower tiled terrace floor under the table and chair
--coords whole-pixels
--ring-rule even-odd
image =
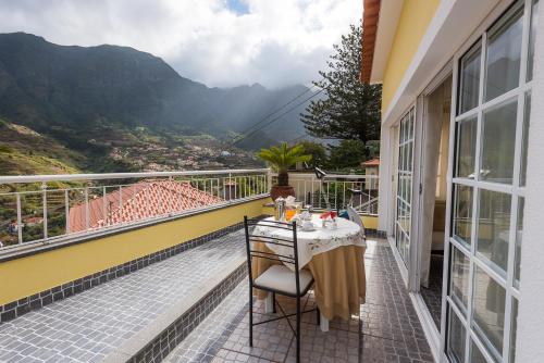
[[[333,321],[322,333],[316,314],[302,318],[304,362],[433,362],[430,348],[411,300],[404,288],[395,259],[385,241],[369,241],[364,255],[367,303],[360,316]],[[169,363],[182,362],[294,362],[293,333],[285,320],[254,328],[254,348],[248,345],[247,280],[238,285],[174,351]],[[292,300],[279,298],[294,311]],[[305,309],[314,306],[310,293]],[[256,321],[268,318],[262,301],[255,306]],[[294,322],[293,322],[294,323]]]

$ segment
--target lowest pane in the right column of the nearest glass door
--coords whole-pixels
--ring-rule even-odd
[[[474,268],[473,324],[477,334],[495,355],[503,351],[506,292],[480,267]],[[489,342],[487,342],[489,341]]]

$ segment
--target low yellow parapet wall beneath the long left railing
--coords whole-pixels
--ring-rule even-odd
[[[262,214],[265,199],[0,263],[0,305]]]

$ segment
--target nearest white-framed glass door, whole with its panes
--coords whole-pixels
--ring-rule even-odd
[[[536,7],[515,2],[456,64],[452,362],[514,362]]]

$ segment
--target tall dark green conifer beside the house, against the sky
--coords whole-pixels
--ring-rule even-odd
[[[362,54],[362,29],[351,32],[334,45],[327,70],[313,85],[324,90],[325,98],[312,100],[301,114],[306,129],[320,138],[355,139],[362,142],[380,139],[381,85],[359,80]]]

